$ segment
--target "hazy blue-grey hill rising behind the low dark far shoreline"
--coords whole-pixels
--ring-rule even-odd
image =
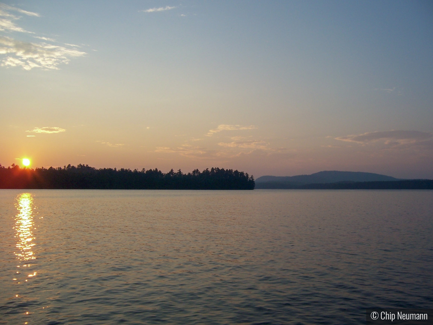
[[[400,181],[387,175],[371,172],[339,172],[337,170],[317,172],[311,175],[262,176],[255,180],[256,188],[297,188],[306,184],[335,182],[384,182]]]

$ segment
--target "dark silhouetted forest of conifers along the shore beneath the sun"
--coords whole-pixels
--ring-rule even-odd
[[[157,168],[96,169],[88,165],[63,168],[19,168],[0,165],[0,188],[58,189],[254,189],[254,177],[233,169],[198,169],[184,174],[179,169],[163,173]]]

